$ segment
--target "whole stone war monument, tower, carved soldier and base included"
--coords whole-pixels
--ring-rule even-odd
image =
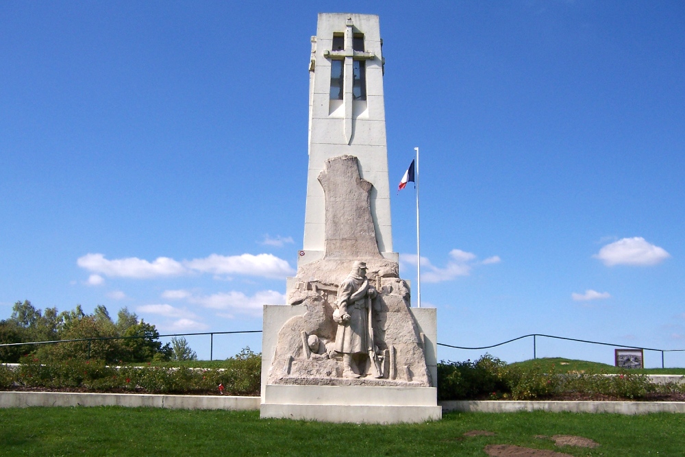
[[[378,16],[319,14],[310,60],[304,245],[264,306],[262,417],[441,417],[436,310],[411,308],[393,252]]]

